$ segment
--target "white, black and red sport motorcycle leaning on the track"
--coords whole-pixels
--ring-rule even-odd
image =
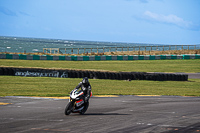
[[[92,96],[92,92],[90,97]],[[84,93],[82,90],[78,91],[78,89],[74,89],[70,93],[69,103],[65,108],[65,115],[69,115],[70,113],[80,113],[84,114],[89,106],[89,102],[84,102]]]

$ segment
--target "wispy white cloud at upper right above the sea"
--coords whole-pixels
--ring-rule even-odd
[[[193,24],[191,21],[185,21],[183,18],[180,18],[176,15],[163,15],[163,14],[156,14],[150,11],[144,12],[145,19],[159,22],[159,23],[166,23],[166,24],[173,24],[178,27],[189,29],[189,30],[199,30],[199,26]]]

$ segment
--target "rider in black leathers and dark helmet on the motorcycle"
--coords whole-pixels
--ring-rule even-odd
[[[84,101],[85,103],[88,102],[89,98],[90,98],[90,95],[91,95],[91,85],[89,83],[89,80],[87,77],[84,77],[82,82],[80,82],[75,89],[79,89],[81,88],[81,90],[83,91],[84,93]]]

